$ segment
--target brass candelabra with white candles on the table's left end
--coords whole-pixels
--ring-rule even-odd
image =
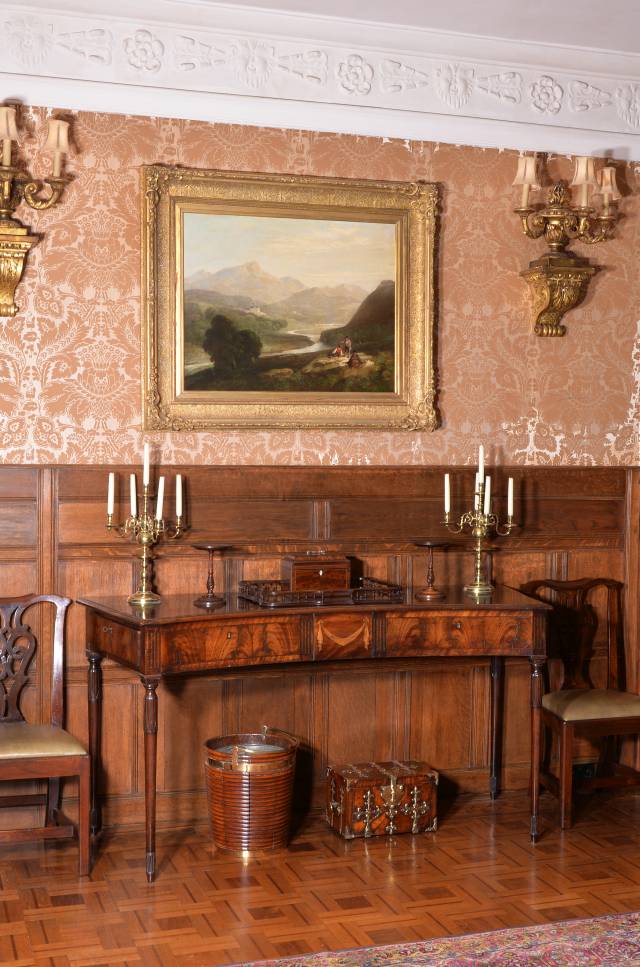
[[[131,512],[122,524],[114,523],[114,489],[115,474],[109,474],[109,492],[107,498],[107,530],[116,530],[120,537],[127,538],[132,543],[140,545],[140,574],[138,588],[135,594],[128,598],[129,604],[139,607],[158,604],[160,595],[153,590],[153,547],[160,540],[177,540],[185,531],[182,519],[182,477],[176,476],[176,517],[168,522],[162,516],[164,502],[164,477],[158,481],[158,495],[155,516],[152,508],[153,493],[149,482],[149,451],[145,444],[144,474],[142,487],[142,507],[138,511],[136,495],[136,478],[131,474]]]

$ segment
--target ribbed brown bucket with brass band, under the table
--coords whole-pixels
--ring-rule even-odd
[[[205,742],[207,799],[220,849],[287,845],[298,740],[270,729]]]

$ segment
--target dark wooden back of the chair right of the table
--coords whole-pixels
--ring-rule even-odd
[[[589,666],[598,630],[593,598],[602,589],[606,591],[606,614],[603,615],[607,633],[606,687],[624,690],[623,587],[620,581],[604,577],[574,581],[541,579],[520,586],[524,594],[554,605],[549,615],[549,654],[562,660],[563,690],[593,688]]]

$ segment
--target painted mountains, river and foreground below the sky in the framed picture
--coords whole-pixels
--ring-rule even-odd
[[[256,262],[185,282],[187,390],[393,390],[393,281],[305,286]],[[349,336],[356,357],[335,347]]]

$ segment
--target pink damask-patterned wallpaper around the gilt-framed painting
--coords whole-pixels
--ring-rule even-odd
[[[47,163],[37,156],[44,114],[30,119],[36,171]],[[502,463],[640,462],[637,195],[624,200],[616,239],[588,253],[606,271],[567,318],[567,336],[540,339],[518,273],[544,245],[525,239],[512,214],[513,152],[93,113],[77,116],[74,137],[64,202],[18,212],[42,240],[18,290],[21,312],[0,320],[4,462],[139,461],[139,166],[150,162],[420,178],[443,193],[441,429],[157,434],[164,462],[462,464],[478,441]],[[569,159],[552,165],[570,175]],[[624,174],[633,190],[631,165]]]

